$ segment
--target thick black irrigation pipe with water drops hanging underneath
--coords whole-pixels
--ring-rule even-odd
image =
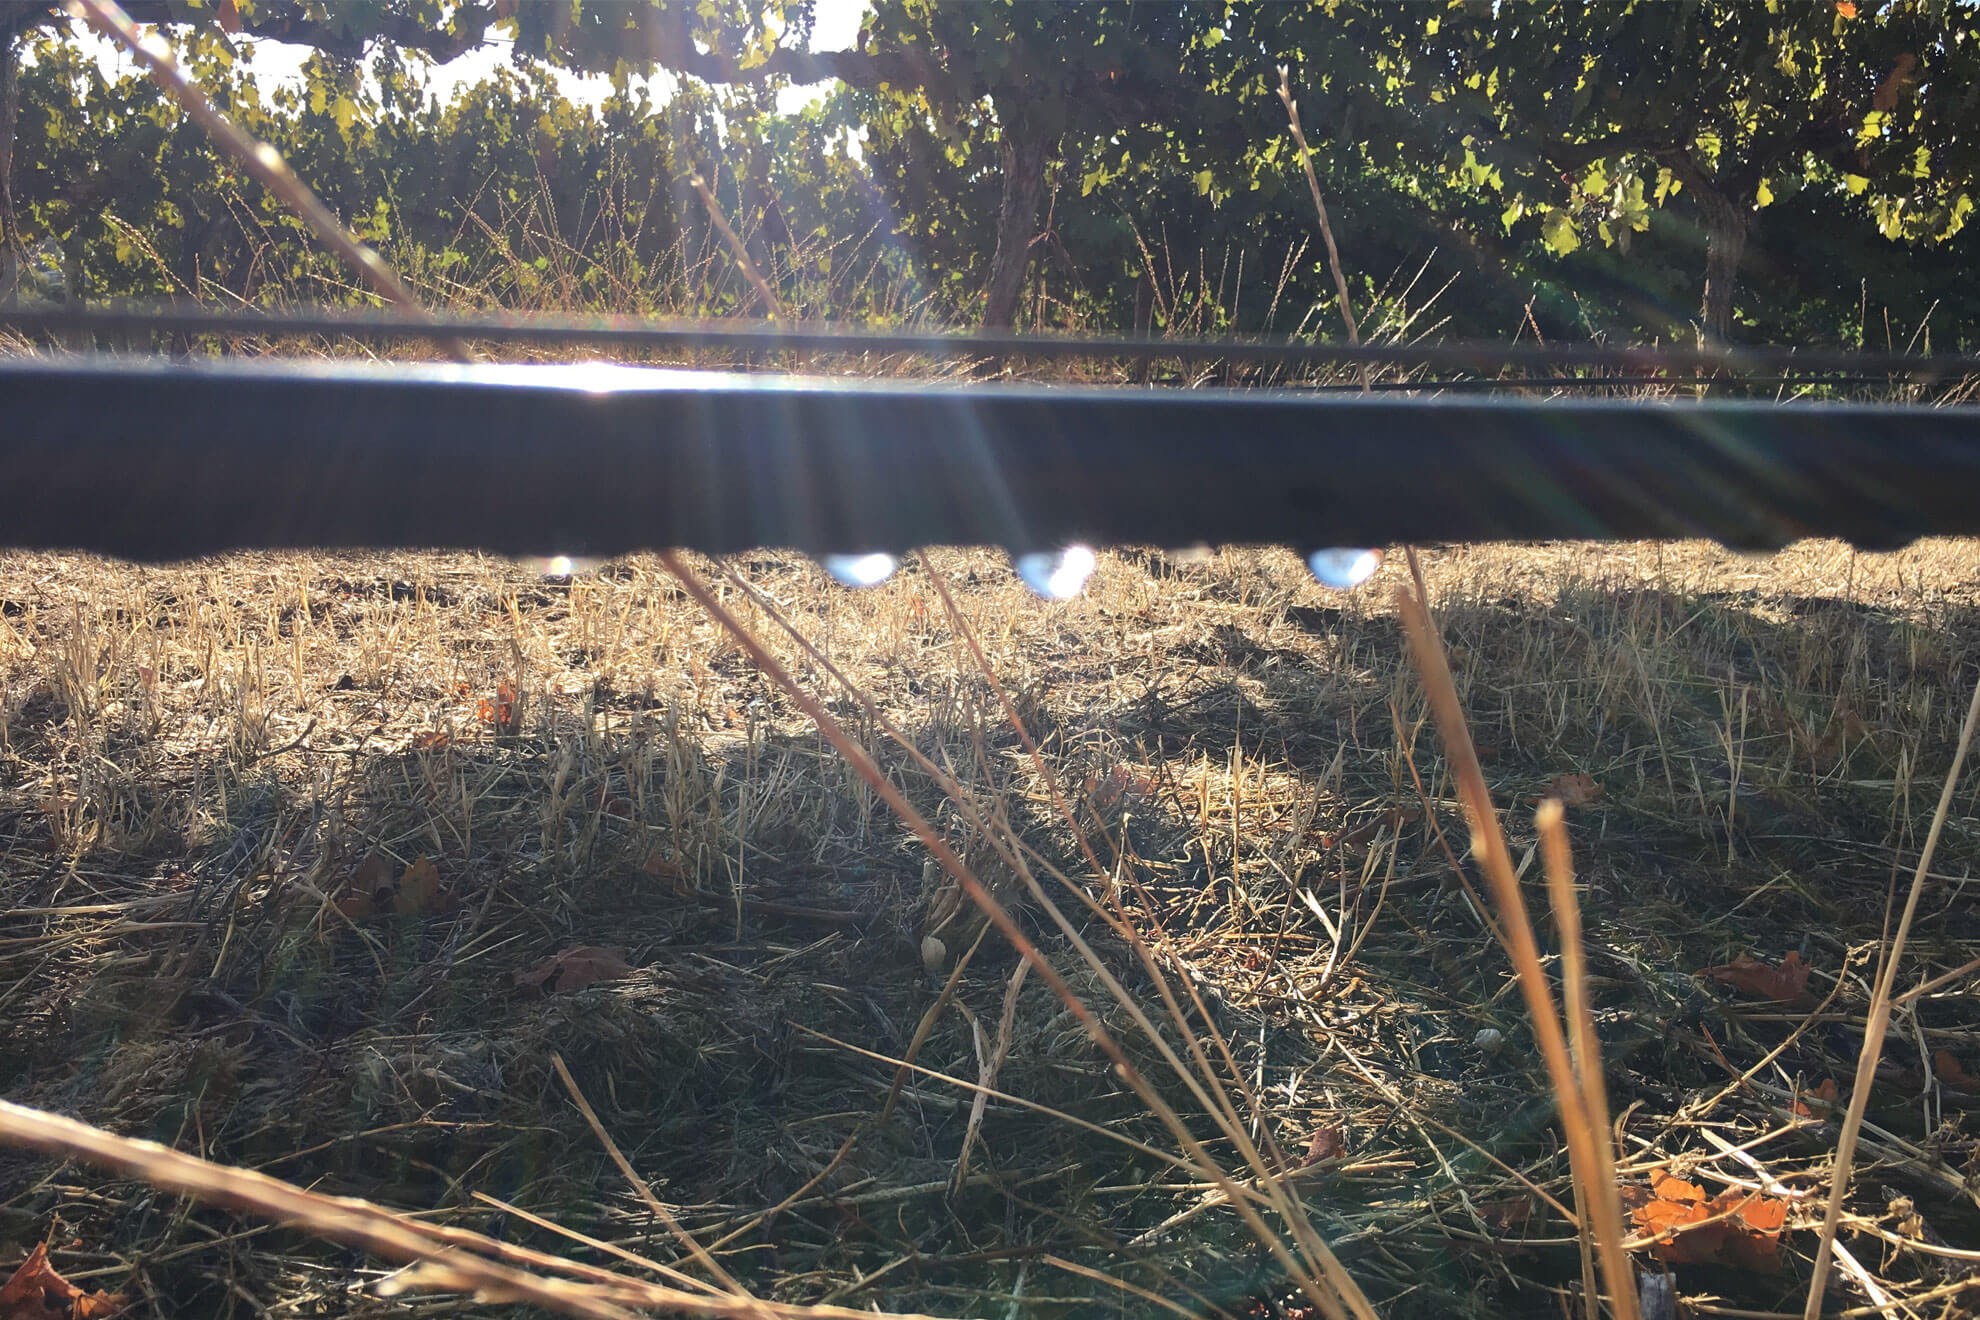
[[[612,556],[1980,532],[1980,408],[0,360],[0,544]]]

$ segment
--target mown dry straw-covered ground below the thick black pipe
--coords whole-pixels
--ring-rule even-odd
[[[792,556],[735,568],[1008,819],[1040,877],[1119,896],[1384,1314],[1582,1314],[1552,1094],[1469,893],[1392,608],[1400,556],[1335,594],[1279,550],[1115,552],[1057,606],[998,556],[931,562],[1049,782],[923,564],[869,592]],[[982,831],[701,568],[1234,1168]],[[1624,1181],[1796,1193],[1772,1271],[1687,1261],[1681,1296],[1701,1316],[1800,1314],[1820,1205],[1798,1195],[1826,1187],[1835,1140],[1820,1094],[1847,1094],[1891,895],[1980,677],[1980,544],[1487,546],[1424,568],[1515,859],[1536,798],[1570,798]],[[1901,990],[1980,954],[1976,863],[1962,790]],[[1544,912],[1538,865],[1527,879]],[[1002,936],[942,995],[976,936],[952,898],[653,560],[544,580],[453,554],[0,556],[6,1098],[572,1259],[695,1273],[560,1059],[653,1195],[760,1296],[1273,1314],[1281,1269],[1160,1162],[1172,1134],[1016,978]],[[1133,950],[1077,896],[1061,906],[1180,1043]],[[1790,952],[1812,972],[1786,1003],[1703,976]],[[925,1071],[897,1083],[911,1051]],[[1909,1298],[1893,1314],[1980,1308],[1974,1075],[1968,968],[1901,1005],[1857,1156],[1841,1241]],[[980,1120],[954,1079],[992,1081]],[[0,1267],[44,1239],[137,1314],[505,1310],[380,1296],[388,1267],[364,1253],[0,1152]],[[1869,1300],[1839,1274],[1830,1308]]]

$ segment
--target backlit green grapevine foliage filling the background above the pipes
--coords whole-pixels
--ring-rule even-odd
[[[131,8],[438,301],[742,309],[699,172],[804,315],[966,319],[1016,269],[1041,323],[1327,332],[1287,63],[1360,311],[1455,277],[1453,332],[1685,334],[1715,251],[1752,334],[1875,338],[1865,307],[1942,295],[1940,346],[1980,336],[1962,4],[877,0],[849,51],[810,49],[804,0]],[[303,91],[263,93],[232,26],[317,44]],[[428,55],[487,38],[515,65],[436,103]],[[356,297],[148,83],[59,28],[28,53],[22,234],[93,297]],[[620,93],[572,103],[552,65]],[[814,77],[838,91],[776,113]]]

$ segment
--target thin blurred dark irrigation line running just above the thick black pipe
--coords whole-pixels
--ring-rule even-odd
[[[1980,376],[1980,356],[1845,352],[1830,348],[1606,348],[1600,344],[1315,344],[1289,338],[1059,336],[1016,332],[935,334],[840,325],[737,325],[640,317],[436,317],[418,321],[368,311],[204,311],[172,305],[0,309],[0,327],[26,334],[83,336],[325,336],[392,340],[465,338],[483,344],[644,348],[649,352],[911,354],[944,362],[996,358],[1123,358],[1138,362],[1243,362],[1275,366],[1418,364],[1439,370],[1503,366],[1594,366],[1626,372],[1851,372],[1903,380]],[[1647,380],[1645,384],[1655,384]]]

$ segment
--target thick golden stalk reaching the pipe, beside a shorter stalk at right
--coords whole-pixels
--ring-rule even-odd
[[[1398,588],[1396,608],[1402,613],[1404,631],[1410,637],[1410,651],[1416,669],[1424,679],[1424,695],[1443,736],[1443,752],[1451,762],[1451,776],[1457,782],[1457,796],[1465,803],[1465,817],[1471,825],[1471,853],[1485,871],[1499,920],[1507,936],[1507,954],[1519,972],[1519,991],[1527,1001],[1527,1015],[1533,1019],[1533,1033],[1546,1061],[1548,1079],[1554,1084],[1554,1100],[1560,1106],[1560,1126],[1568,1142],[1568,1162],[1578,1183],[1598,1178],[1604,1164],[1598,1146],[1608,1142],[1608,1130],[1596,1130],[1594,1116],[1582,1098],[1582,1084],[1568,1055],[1568,1039],[1554,1009],[1554,993],[1540,968],[1540,946],[1533,934],[1527,914],[1527,900],[1519,889],[1519,875],[1513,871],[1513,855],[1505,845],[1505,831],[1499,827],[1499,813],[1493,809],[1491,790],[1485,786],[1485,772],[1479,766],[1477,748],[1471,744],[1471,726],[1465,722],[1463,707],[1457,701],[1457,685],[1451,679],[1449,661],[1443,655],[1443,639],[1430,621],[1426,604],[1410,590]],[[1600,1077],[1592,1079],[1600,1084]],[[1608,1280],[1610,1308],[1618,1320],[1637,1320],[1635,1274],[1622,1249],[1622,1199],[1616,1181],[1606,1185],[1584,1185],[1582,1207],[1592,1219],[1596,1249],[1602,1261],[1602,1274]],[[1594,1298],[1590,1298],[1594,1306]]]

